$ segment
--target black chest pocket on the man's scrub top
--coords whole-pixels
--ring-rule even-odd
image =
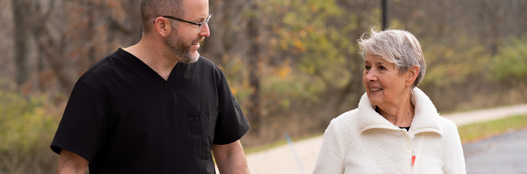
[[[210,159],[214,128],[220,111],[189,110],[192,147],[201,159]]]

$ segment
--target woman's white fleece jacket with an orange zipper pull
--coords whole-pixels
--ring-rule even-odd
[[[375,112],[366,94],[357,109],[331,120],[313,173],[466,173],[456,125],[421,89],[412,91],[409,131]]]

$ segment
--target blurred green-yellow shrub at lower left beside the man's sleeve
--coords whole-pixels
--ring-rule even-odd
[[[0,90],[0,173],[55,173],[50,144],[63,105],[43,94]]]

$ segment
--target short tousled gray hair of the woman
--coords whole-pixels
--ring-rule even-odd
[[[366,54],[382,58],[387,62],[394,63],[399,73],[406,73],[412,66],[419,67],[419,74],[412,84],[417,87],[425,77],[426,63],[419,41],[414,34],[401,29],[387,29],[377,32],[372,27],[372,32],[364,33],[357,40],[360,54],[366,59]]]

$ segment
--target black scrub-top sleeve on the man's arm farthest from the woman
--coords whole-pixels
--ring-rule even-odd
[[[51,149],[75,153],[92,163],[105,139],[104,113],[99,97],[92,87],[79,79],[67,102]]]

